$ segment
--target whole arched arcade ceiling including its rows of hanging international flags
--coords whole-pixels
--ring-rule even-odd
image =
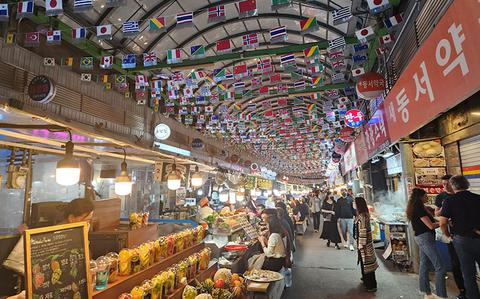
[[[371,67],[372,47],[355,38],[372,23],[371,3],[94,0],[78,12],[75,2],[56,18],[86,28],[88,42],[115,57],[117,66],[103,69],[113,88],[128,76],[119,91],[139,104],[286,175],[324,173],[352,140],[343,116],[359,106],[355,77]],[[111,38],[99,38],[102,25],[111,25]],[[149,53],[156,59],[147,65]],[[131,54],[134,67],[119,67]]]

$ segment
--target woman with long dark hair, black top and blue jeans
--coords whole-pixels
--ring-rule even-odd
[[[412,224],[420,253],[420,292],[425,294],[425,298],[433,298],[428,279],[429,268],[433,265],[436,295],[440,298],[447,298],[445,266],[442,264],[440,253],[435,244],[435,228],[439,225],[425,207],[427,200],[427,192],[423,189],[414,188],[407,204],[407,218]]]

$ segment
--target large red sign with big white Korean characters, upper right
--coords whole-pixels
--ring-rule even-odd
[[[385,99],[392,142],[480,89],[480,3],[453,1]]]

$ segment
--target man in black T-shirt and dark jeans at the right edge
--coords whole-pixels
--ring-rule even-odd
[[[440,224],[443,233],[452,238],[448,230],[449,219],[453,228],[453,245],[460,260],[468,299],[480,299],[476,263],[480,264],[480,195],[468,191],[470,183],[461,175],[450,178],[455,196],[443,203]]]

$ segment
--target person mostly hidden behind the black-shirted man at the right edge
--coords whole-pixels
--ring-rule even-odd
[[[453,192],[452,185],[450,184],[450,178],[452,175],[445,175],[442,177],[442,185],[443,185],[443,192],[437,195],[435,198],[435,216],[441,216],[442,207],[444,206],[446,201],[452,200],[455,196],[455,192]],[[450,235],[454,235],[454,230],[451,225],[448,225],[448,231]],[[460,294],[457,296],[457,299],[465,299],[466,298],[466,290],[465,290],[465,283],[463,281],[462,276],[462,268],[460,266],[460,260],[458,258],[457,252],[455,250],[455,246],[453,246],[453,242],[449,242],[447,244],[448,247],[448,254],[450,255],[450,262],[452,264],[452,272],[453,272],[453,279],[455,280],[455,284],[457,285]]]

